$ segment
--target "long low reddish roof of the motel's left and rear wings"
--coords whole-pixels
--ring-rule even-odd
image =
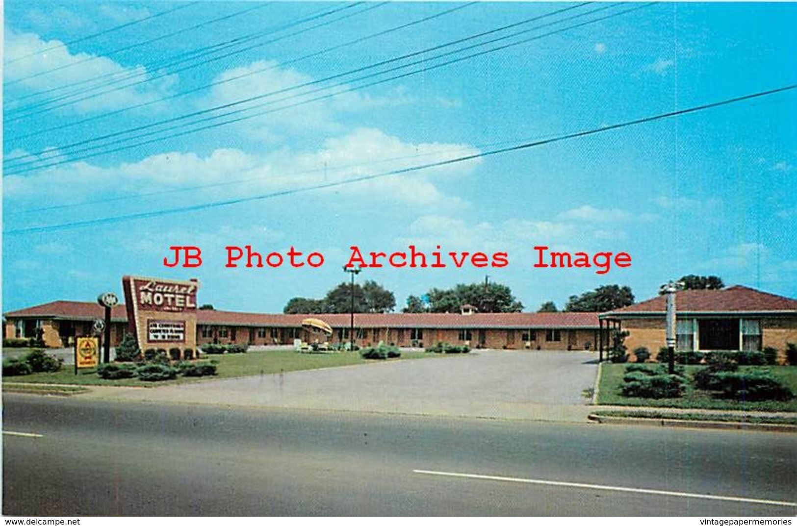
[[[6,312],[6,318],[55,318],[93,320],[103,316],[103,308],[83,301],[53,301],[35,307]],[[265,327],[298,327],[307,317],[324,320],[332,327],[348,327],[349,314],[261,314],[198,310],[197,323]],[[114,321],[127,320],[124,305],[112,310]],[[363,328],[598,328],[597,312],[507,312],[461,314],[355,314],[355,325]]]

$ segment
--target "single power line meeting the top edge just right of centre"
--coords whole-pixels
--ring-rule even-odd
[[[234,77],[229,77],[229,78],[226,78],[226,79],[223,79],[223,80],[216,80],[214,82],[211,82],[210,84],[204,84],[204,85],[199,86],[197,88],[191,88],[191,89],[189,89],[189,90],[187,90],[185,92],[179,92],[179,93],[175,93],[174,95],[166,96],[166,97],[163,97],[163,98],[160,98],[160,99],[157,99],[157,100],[150,100],[150,101],[147,101],[147,102],[134,104],[132,106],[128,106],[127,108],[120,108],[120,109],[114,110],[112,112],[105,112],[105,113],[103,113],[101,115],[96,115],[96,116],[88,117],[86,119],[81,119],[81,120],[77,120],[77,121],[70,121],[69,123],[60,124],[58,126],[53,126],[52,128],[45,128],[45,129],[42,129],[42,130],[32,131],[29,134],[18,136],[17,139],[26,139],[28,137],[32,137],[32,136],[35,136],[35,135],[42,135],[42,134],[47,133],[49,131],[61,130],[61,129],[64,129],[64,128],[72,128],[73,126],[77,126],[79,124],[84,124],[84,123],[90,122],[92,120],[104,119],[104,118],[107,118],[108,116],[118,115],[120,113],[128,112],[128,111],[130,111],[132,109],[143,108],[143,107],[149,106],[151,104],[156,104],[156,103],[159,103],[159,102],[164,102],[166,100],[175,99],[175,98],[178,98],[178,97],[181,97],[181,96],[190,95],[190,93],[198,92],[198,91],[201,91],[202,89],[206,89],[206,88],[212,88],[213,86],[217,86],[219,84],[226,84],[228,82],[232,82],[234,80],[239,80],[241,78],[251,77],[252,75],[257,75],[257,73],[265,73],[266,71],[269,71],[271,69],[276,69],[277,67],[285,67],[287,65],[296,64],[297,62],[307,60],[308,58],[319,57],[320,55],[323,55],[325,53],[331,53],[332,51],[336,51],[338,49],[343,49],[343,48],[345,48],[345,47],[347,47],[349,45],[355,45],[355,44],[359,44],[359,43],[361,43],[363,41],[371,40],[372,38],[382,37],[383,35],[386,35],[388,33],[393,33],[395,31],[398,31],[399,29],[406,29],[407,27],[415,26],[415,25],[420,24],[422,22],[428,22],[430,20],[433,20],[434,18],[439,18],[439,17],[445,16],[446,14],[451,14],[451,13],[453,13],[455,11],[458,11],[458,10],[461,10],[461,9],[465,9],[465,7],[468,7],[468,6],[473,6],[476,3],[477,2],[469,2],[469,3],[466,3],[466,4],[462,4],[461,6],[456,6],[456,7],[453,7],[451,9],[448,9],[448,10],[445,10],[445,11],[441,11],[439,13],[432,14],[432,15],[424,17],[424,18],[418,18],[417,20],[414,20],[412,22],[407,22],[407,23],[402,24],[400,26],[394,26],[394,27],[391,27],[389,29],[384,29],[383,31],[379,31],[377,33],[371,33],[369,35],[366,35],[365,37],[355,38],[354,40],[350,40],[350,41],[344,42],[342,44],[333,45],[330,48],[320,49],[319,51],[316,51],[316,52],[313,52],[313,53],[308,53],[307,55],[303,55],[301,57],[297,57],[297,58],[291,59],[289,61],[281,62],[279,65],[272,65],[272,66],[269,66],[267,68],[261,68],[261,69],[256,69],[256,70],[253,70],[253,71],[250,71],[250,72],[247,72],[247,73],[241,73],[240,75],[236,75]],[[33,155],[35,155],[35,154],[33,154]],[[7,159],[7,160],[22,159],[22,157],[24,157],[24,155],[15,157],[13,159]]]

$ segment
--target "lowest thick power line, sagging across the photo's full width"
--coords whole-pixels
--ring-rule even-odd
[[[790,85],[783,86],[783,87],[780,87],[780,88],[769,89],[769,90],[763,91],[763,92],[750,93],[748,95],[743,95],[743,96],[736,96],[736,97],[733,97],[731,99],[720,100],[720,101],[709,103],[709,104],[701,104],[699,106],[693,106],[692,108],[686,108],[686,109],[677,110],[677,111],[674,111],[674,112],[659,113],[658,115],[642,117],[640,119],[635,119],[635,120],[626,120],[626,121],[621,122],[621,123],[611,124],[611,125],[608,125],[608,126],[603,126],[601,128],[591,128],[589,130],[576,131],[574,133],[569,133],[569,134],[566,134],[566,135],[558,135],[558,136],[553,137],[551,139],[543,139],[543,140],[538,140],[538,141],[534,141],[534,142],[531,142],[531,143],[516,144],[516,145],[511,146],[511,147],[498,148],[496,150],[485,151],[485,152],[481,152],[481,153],[477,153],[477,154],[473,154],[473,155],[463,155],[463,156],[456,157],[456,158],[453,158],[453,159],[446,159],[446,160],[438,161],[438,162],[434,162],[434,163],[420,164],[420,165],[416,165],[416,166],[413,166],[413,167],[406,167],[406,168],[399,168],[397,170],[384,171],[384,172],[381,172],[381,173],[378,173],[378,174],[363,175],[361,177],[355,177],[355,178],[352,178],[352,179],[346,179],[344,181],[336,181],[336,182],[332,182],[332,183],[323,183],[323,184],[302,186],[302,187],[299,187],[299,188],[289,188],[289,189],[286,189],[286,190],[279,190],[279,191],[276,191],[276,192],[270,192],[268,194],[254,195],[254,196],[249,196],[249,197],[244,197],[244,198],[227,199],[227,200],[224,200],[224,201],[206,202],[206,203],[202,203],[202,204],[198,204],[198,205],[191,205],[191,206],[167,208],[167,209],[162,209],[162,210],[152,210],[150,212],[140,212],[140,213],[137,213],[137,214],[124,214],[124,215],[118,215],[118,216],[113,216],[113,217],[109,217],[109,218],[96,218],[96,219],[89,219],[89,220],[86,220],[86,221],[61,223],[61,224],[57,224],[57,225],[32,226],[32,227],[16,229],[16,230],[6,230],[4,232],[4,234],[6,234],[6,235],[18,235],[18,234],[33,234],[33,233],[42,233],[42,232],[54,232],[54,231],[58,231],[58,230],[73,230],[73,229],[81,228],[81,227],[85,227],[85,226],[98,226],[98,225],[104,225],[104,224],[109,224],[109,223],[132,221],[132,220],[136,220],[136,219],[155,218],[155,217],[160,217],[160,216],[164,216],[164,215],[181,214],[181,213],[185,213],[185,212],[206,210],[206,209],[210,209],[210,208],[218,208],[218,207],[221,207],[221,206],[231,206],[231,205],[240,204],[240,203],[243,203],[243,202],[261,201],[261,200],[264,200],[264,199],[276,198],[276,197],[281,197],[281,196],[285,196],[285,195],[300,194],[300,193],[304,193],[304,192],[308,192],[308,191],[312,191],[312,190],[324,190],[324,189],[327,189],[327,188],[333,188],[333,187],[337,187],[337,186],[345,186],[345,185],[349,185],[349,184],[353,184],[353,183],[362,183],[363,181],[370,181],[370,180],[373,180],[373,179],[382,179],[384,177],[388,177],[388,176],[391,176],[391,175],[402,175],[402,174],[406,174],[406,173],[410,173],[410,172],[414,172],[414,171],[428,170],[428,169],[434,168],[434,167],[442,167],[442,166],[455,164],[455,163],[463,163],[465,161],[469,161],[469,160],[473,160],[473,159],[480,159],[480,158],[488,157],[488,156],[492,156],[492,155],[505,154],[505,153],[509,153],[509,152],[512,152],[512,151],[526,150],[528,148],[539,147],[539,146],[543,146],[545,144],[558,143],[560,141],[564,141],[564,140],[568,140],[568,139],[576,139],[576,138],[579,138],[579,137],[585,137],[587,135],[596,135],[596,134],[599,134],[599,133],[604,133],[606,131],[617,130],[617,129],[620,129],[620,128],[627,128],[627,127],[635,126],[635,125],[638,125],[638,124],[650,123],[650,122],[654,122],[656,120],[664,120],[664,119],[669,119],[669,118],[672,118],[672,117],[675,117],[675,116],[688,115],[690,113],[695,113],[695,112],[702,112],[702,111],[705,111],[705,110],[708,110],[708,109],[711,109],[711,108],[718,108],[720,106],[725,106],[725,105],[728,105],[728,104],[736,104],[736,103],[742,102],[744,100],[752,100],[752,99],[756,99],[756,98],[763,97],[763,96],[774,95],[775,93],[787,92],[787,91],[793,90],[795,88],[797,88],[797,84],[790,84]]]

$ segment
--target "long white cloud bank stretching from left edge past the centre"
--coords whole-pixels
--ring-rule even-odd
[[[41,203],[83,202],[86,196],[112,198],[186,186],[214,185],[159,198],[159,201],[167,203],[191,198],[195,203],[197,200],[217,200],[220,187],[226,196],[234,197],[253,192],[345,183],[358,177],[477,153],[476,148],[466,144],[404,143],[382,131],[363,128],[328,139],[316,151],[295,152],[283,148],[261,156],[237,149],[218,149],[206,156],[169,152],[116,167],[97,167],[80,161],[26,175],[7,175],[4,190],[6,199],[14,206],[31,208],[42,206]],[[438,182],[456,180],[469,174],[480,163],[481,159],[471,159],[334,186],[320,190],[320,193],[367,195],[367,201],[376,204],[400,202],[461,209],[466,203],[446,195],[438,188]],[[151,202],[155,199],[148,198]]]

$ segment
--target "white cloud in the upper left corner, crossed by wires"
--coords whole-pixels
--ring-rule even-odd
[[[41,50],[45,51],[37,53]],[[76,93],[75,98],[83,98],[84,93],[92,86],[104,84],[108,80],[129,78],[130,80],[124,82],[124,84],[128,84],[133,80],[144,80],[151,77],[151,74],[143,66],[128,68],[108,57],[89,53],[73,54],[61,41],[44,41],[37,34],[17,33],[13,29],[6,29],[6,57],[8,60],[20,57],[20,60],[10,63],[3,71],[5,81],[13,92],[41,92],[60,88],[66,84],[102,77],[96,83],[87,82],[74,88],[55,92],[58,96],[71,96]],[[45,73],[53,69],[57,69],[57,71]],[[136,77],[130,77],[132,75]],[[129,86],[116,91],[105,92],[112,86],[100,88],[100,91],[103,92],[102,95],[57,108],[57,111],[99,112],[149,102],[170,92],[176,80],[176,75],[169,75],[139,84],[139,86]],[[68,100],[71,99],[62,100],[59,104]],[[12,96],[10,101],[6,100],[6,109],[25,108],[29,104],[31,104],[31,100],[22,100],[18,104],[14,104]],[[153,106],[149,107],[148,111],[153,111]]]

